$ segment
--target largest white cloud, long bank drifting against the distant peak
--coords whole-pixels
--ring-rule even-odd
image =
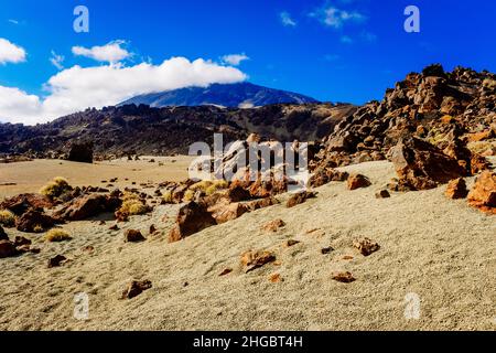
[[[187,86],[235,83],[247,76],[236,67],[203,58],[172,57],[160,65],[73,66],[52,76],[42,99],[18,88],[0,86],[0,121],[33,125],[88,107],[101,108],[133,96]]]

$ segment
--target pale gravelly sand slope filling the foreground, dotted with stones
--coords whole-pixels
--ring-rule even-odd
[[[177,205],[122,224],[145,236],[150,224],[158,226],[161,234],[141,244],[125,244],[123,228],[108,231],[114,222],[65,225],[74,239],[64,244],[29,235],[41,254],[0,260],[0,330],[495,330],[496,218],[445,199],[445,186],[376,200],[395,175],[388,162],[345,169],[366,174],[373,186],[331,183],[294,208],[259,210],[175,244],[165,234]],[[287,226],[260,229],[274,218]],[[306,234],[314,228],[322,232]],[[381,246],[369,257],[352,247],[365,236]],[[290,238],[301,243],[287,248]],[[88,245],[94,254],[82,252]],[[324,256],[326,246],[335,250]],[[280,265],[244,274],[239,259],[248,249],[273,250]],[[56,254],[73,261],[46,268]],[[226,267],[234,271],[219,277]],[[342,270],[356,281],[332,280]],[[269,281],[276,272],[282,282]],[[119,300],[131,279],[150,279],[153,288]],[[73,318],[78,292],[89,296],[87,321]],[[410,292],[421,299],[419,320],[403,314]]]

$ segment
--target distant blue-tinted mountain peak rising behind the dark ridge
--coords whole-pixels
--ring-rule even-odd
[[[133,97],[120,105],[144,104],[151,107],[217,105],[231,108],[259,107],[270,104],[304,104],[317,100],[296,93],[267,88],[250,83],[214,84],[187,87]]]

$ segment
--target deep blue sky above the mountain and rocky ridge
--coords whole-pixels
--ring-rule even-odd
[[[79,4],[89,9],[89,33],[73,30],[73,10]],[[410,4],[421,11],[420,33],[403,30],[403,11]],[[77,93],[77,87],[68,89],[64,85],[74,85],[67,84],[69,79],[85,79],[86,72],[77,76],[73,71],[71,77],[68,73],[61,77],[63,83],[48,84],[51,77],[75,65],[119,65],[116,69],[121,71],[142,62],[161,65],[179,56],[231,66],[230,72],[215,74],[211,71],[216,67],[202,68],[205,75],[220,81],[229,81],[226,75],[236,81],[242,73],[252,83],[320,100],[363,104],[380,99],[396,81],[434,62],[450,69],[460,64],[496,72],[495,23],[496,2],[487,0],[2,1],[0,39],[22,47],[25,57],[0,64],[0,88],[15,88],[30,97],[32,111],[19,113],[28,119],[39,114],[43,100],[54,90]],[[89,54],[74,54],[75,46],[89,53],[108,43],[117,43],[128,57],[109,63]],[[58,68],[50,61],[53,52],[64,56]],[[245,54],[249,60],[233,65],[222,60],[228,54]],[[185,75],[188,69],[197,71],[183,64]],[[141,76],[142,81],[149,79]],[[110,77],[116,85],[120,82],[120,76]],[[204,77],[197,79],[204,82]],[[117,99],[129,93],[111,93],[109,97]],[[101,94],[107,92],[103,89]],[[19,97],[20,103],[21,98],[25,97]],[[69,94],[64,98],[73,99]],[[2,98],[0,89],[0,119],[6,120],[7,114],[17,115],[18,110],[9,107],[2,113],[2,99],[8,97]],[[41,120],[50,114],[44,111],[46,118]]]

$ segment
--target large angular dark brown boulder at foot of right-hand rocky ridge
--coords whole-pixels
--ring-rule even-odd
[[[401,139],[389,154],[399,184],[411,190],[434,189],[466,173],[455,159],[414,137]]]

